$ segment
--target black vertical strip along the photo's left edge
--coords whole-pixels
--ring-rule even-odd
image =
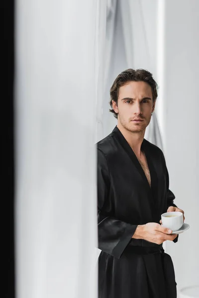
[[[2,4],[2,2],[1,2]],[[8,280],[6,297],[15,297],[15,258],[14,258],[14,0],[3,0],[3,106],[4,113],[3,147],[6,158],[3,157],[3,188],[6,197],[6,222],[8,241],[3,241],[7,254]],[[6,237],[7,238],[7,237]],[[3,294],[2,294],[3,295]]]

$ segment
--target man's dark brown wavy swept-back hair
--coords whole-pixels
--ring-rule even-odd
[[[143,69],[127,69],[121,74],[118,74],[115,78],[111,88],[110,88],[110,106],[111,109],[109,111],[113,113],[114,117],[117,118],[117,113],[112,108],[112,100],[114,100],[117,104],[118,100],[118,93],[119,93],[119,87],[125,85],[127,82],[130,81],[143,81],[148,83],[151,86],[152,94],[153,94],[153,102],[156,101],[158,97],[158,85],[156,81],[153,78],[153,75],[149,73],[147,70]]]

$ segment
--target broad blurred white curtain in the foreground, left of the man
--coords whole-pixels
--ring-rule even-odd
[[[98,5],[16,0],[17,298],[97,297]]]

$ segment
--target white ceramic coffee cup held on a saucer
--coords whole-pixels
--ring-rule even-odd
[[[177,231],[183,225],[182,212],[166,212],[161,215],[162,225],[170,228],[172,231]]]

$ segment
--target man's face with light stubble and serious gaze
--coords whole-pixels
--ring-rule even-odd
[[[151,86],[143,81],[130,81],[119,88],[117,105],[118,123],[130,132],[143,132],[149,125],[151,113],[155,108]],[[136,120],[137,119],[137,120]]]

